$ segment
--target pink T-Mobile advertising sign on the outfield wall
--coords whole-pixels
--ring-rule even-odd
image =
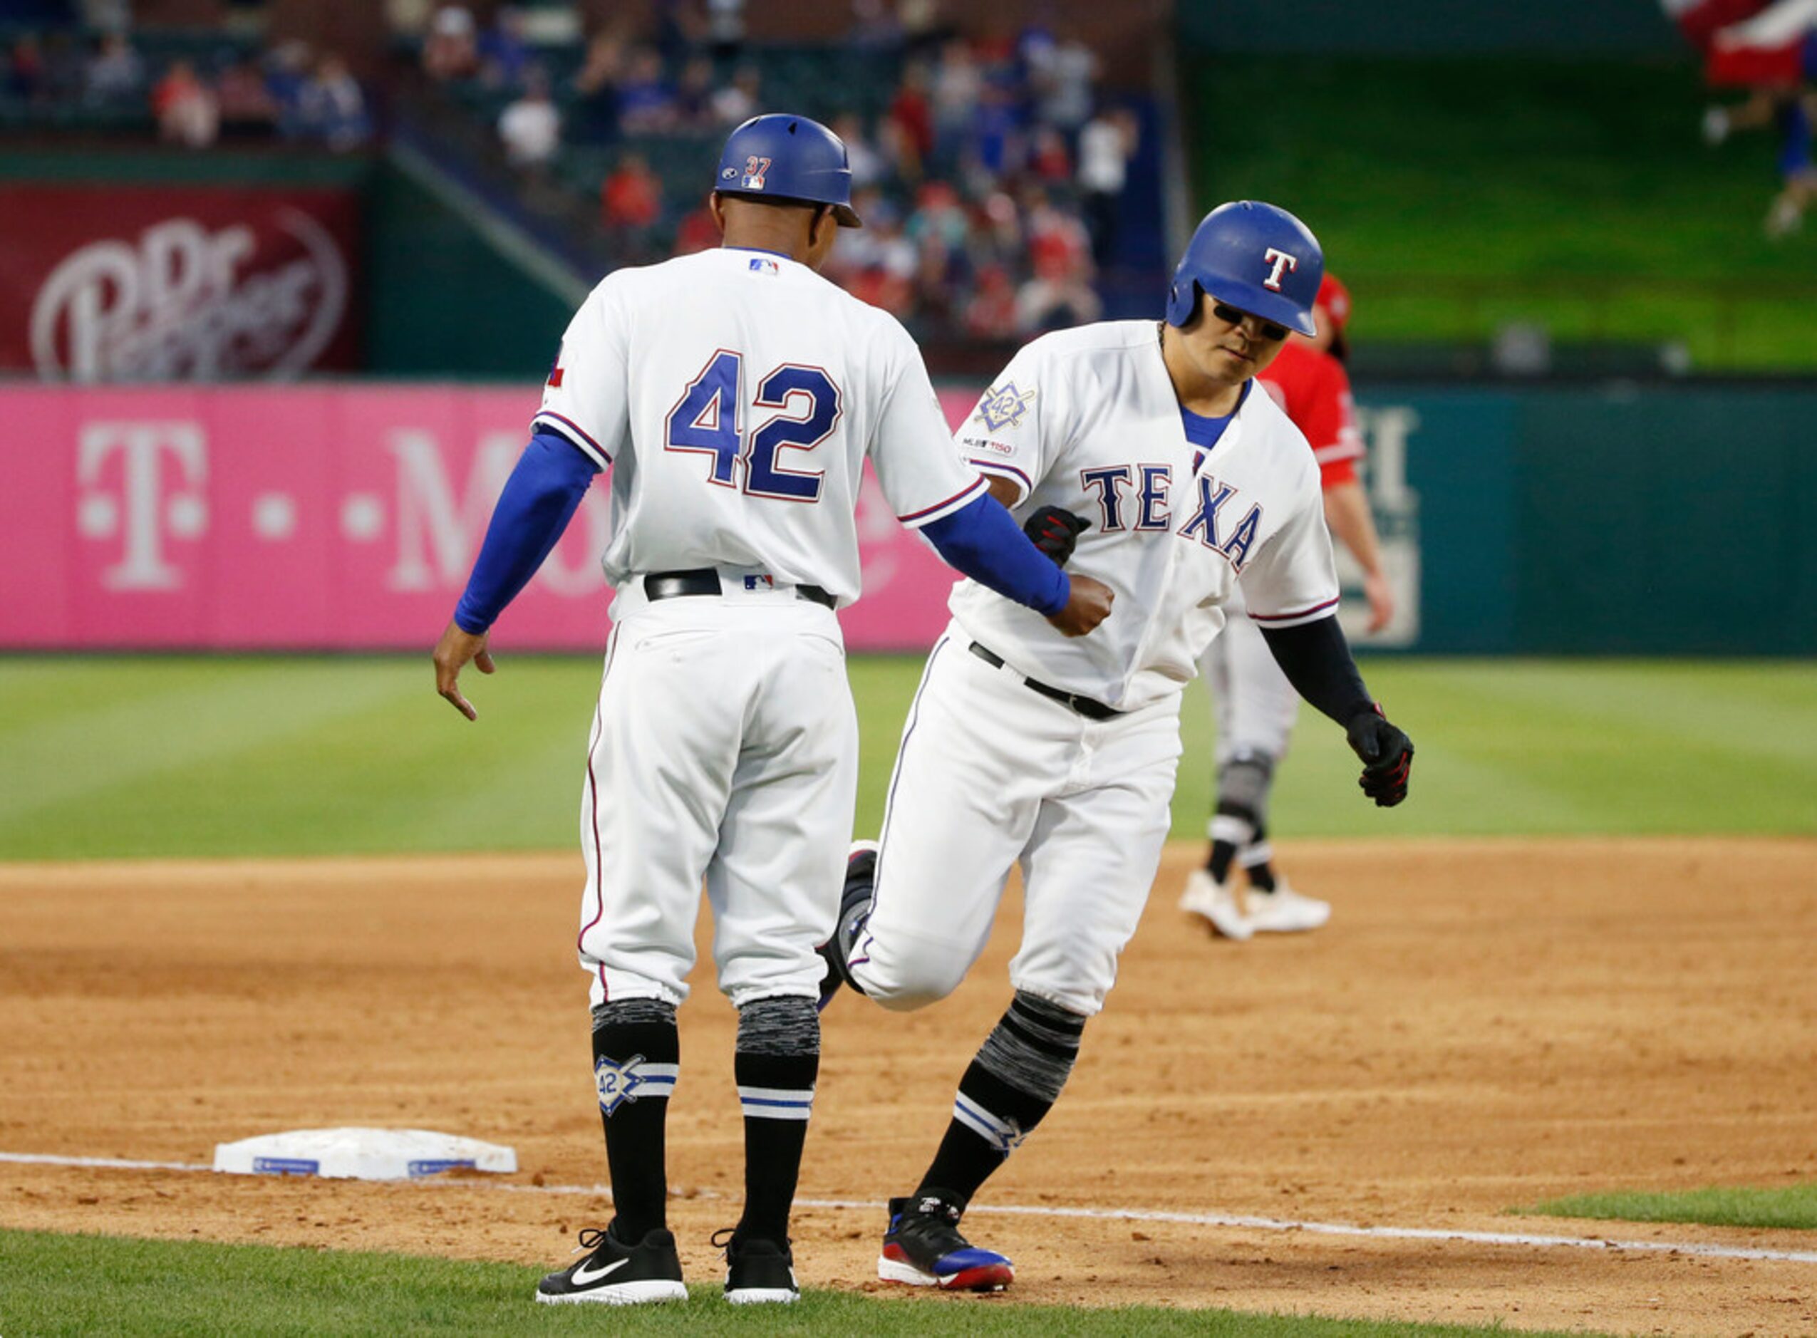
[[[0,649],[427,651],[538,391],[0,387]],[[972,407],[943,394],[948,418]],[[494,633],[598,651],[603,480]],[[914,651],[954,574],[865,480],[852,649]]]

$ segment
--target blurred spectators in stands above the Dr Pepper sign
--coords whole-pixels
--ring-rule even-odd
[[[18,31],[0,49],[0,109],[27,124],[35,113],[93,127],[149,118],[162,140],[191,149],[267,138],[340,151],[372,138],[367,95],[333,51],[267,47],[247,29],[145,42],[127,0],[64,9],[67,22]]]

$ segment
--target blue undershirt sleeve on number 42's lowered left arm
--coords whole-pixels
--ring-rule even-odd
[[[454,605],[454,624],[463,633],[483,633],[529,584],[596,473],[598,465],[567,438],[549,431],[531,438],[498,494],[467,591]]]

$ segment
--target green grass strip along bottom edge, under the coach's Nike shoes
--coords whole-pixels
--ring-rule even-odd
[[[1459,1325],[1305,1320],[1156,1307],[1077,1311],[956,1298],[878,1302],[805,1293],[789,1311],[734,1309],[714,1287],[685,1305],[541,1307],[540,1269],[407,1254],[320,1253],[0,1231],[0,1333],[169,1334],[1201,1334],[1203,1338],[1470,1338]],[[1537,1336],[1544,1338],[1544,1336]]]

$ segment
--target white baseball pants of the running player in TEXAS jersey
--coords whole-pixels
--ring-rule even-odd
[[[947,627],[908,711],[852,976],[889,1009],[950,994],[1019,862],[1010,982],[1090,1016],[1161,862],[1179,696],[1094,722],[978,658],[970,642]]]

